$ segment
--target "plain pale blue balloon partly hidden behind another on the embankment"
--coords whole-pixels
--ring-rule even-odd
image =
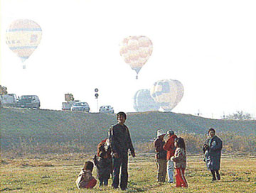
[[[137,112],[158,111],[160,108],[150,95],[149,89],[140,89],[134,95],[134,109]]]

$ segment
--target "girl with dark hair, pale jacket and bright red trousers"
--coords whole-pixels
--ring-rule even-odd
[[[186,147],[183,138],[177,138],[174,145],[176,150],[171,160],[174,161],[174,168],[176,169],[176,187],[188,187],[184,175],[186,169]]]

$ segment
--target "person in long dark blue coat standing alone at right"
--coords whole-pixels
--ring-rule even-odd
[[[205,162],[208,170],[213,175],[213,181],[220,180],[220,156],[223,142],[218,136],[215,136],[215,130],[210,128],[208,131],[208,138],[203,145],[203,153],[205,154]],[[217,179],[216,179],[216,175]]]

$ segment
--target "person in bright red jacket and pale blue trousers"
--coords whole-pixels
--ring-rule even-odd
[[[174,162],[171,160],[171,157],[174,156],[174,152],[176,147],[174,146],[174,141],[177,136],[174,134],[174,131],[167,131],[167,136],[169,136],[168,140],[164,144],[164,150],[167,151],[166,160],[167,160],[167,175],[168,182],[174,182]]]

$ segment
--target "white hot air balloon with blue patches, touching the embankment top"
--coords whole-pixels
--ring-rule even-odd
[[[183,96],[183,85],[176,79],[163,79],[154,83],[150,94],[161,109],[171,111],[181,101]]]

